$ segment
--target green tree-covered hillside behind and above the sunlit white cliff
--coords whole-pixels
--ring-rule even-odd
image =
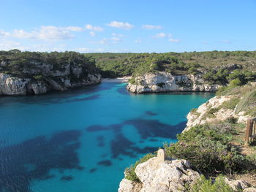
[[[256,51],[208,51],[191,53],[87,53],[103,77],[138,76],[146,72],[203,74],[212,82],[226,84],[255,80]],[[233,71],[231,73],[231,71]]]

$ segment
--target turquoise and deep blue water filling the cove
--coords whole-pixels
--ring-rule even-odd
[[[0,98],[0,191],[113,192],[124,169],[175,142],[209,93],[130,94],[126,84]]]

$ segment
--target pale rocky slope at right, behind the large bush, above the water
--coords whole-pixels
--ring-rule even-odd
[[[249,115],[245,115],[246,112],[236,113],[236,107],[234,109],[222,107],[222,104],[234,98],[236,98],[236,96],[214,96],[206,103],[201,104],[197,109],[190,111],[187,115],[187,127],[184,131],[189,130],[189,128],[193,126],[217,120],[226,120],[231,117],[237,118],[238,123],[246,123],[246,120],[251,118]]]

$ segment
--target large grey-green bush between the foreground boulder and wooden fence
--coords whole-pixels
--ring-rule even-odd
[[[195,126],[178,134],[178,142],[165,145],[165,150],[171,158],[187,159],[206,175],[255,169],[252,161],[229,144],[233,133],[233,124],[227,121]]]

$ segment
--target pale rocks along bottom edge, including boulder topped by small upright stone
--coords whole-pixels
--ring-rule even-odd
[[[193,170],[188,161],[165,159],[159,153],[157,157],[138,164],[135,173],[140,183],[124,178],[119,184],[118,192],[188,191],[188,188],[200,180],[200,173]],[[234,192],[256,192],[256,188],[245,180],[231,180],[225,177],[224,181]]]

